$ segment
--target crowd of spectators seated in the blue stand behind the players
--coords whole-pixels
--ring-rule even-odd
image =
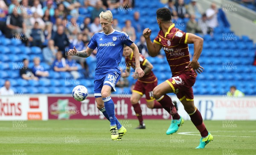
[[[172,11],[174,20],[186,22],[186,32],[212,34],[218,26],[217,14],[220,9],[214,3],[204,12],[197,0],[190,0],[187,4],[184,0],[161,2]],[[55,72],[70,72],[74,78],[79,78],[81,74],[77,64],[80,64],[87,78],[91,75],[86,59],[67,56],[67,50],[73,49],[73,46],[77,50],[86,49],[93,34],[102,31],[99,22],[101,11],[118,11],[120,7],[131,9],[134,5],[135,0],[0,0],[0,30],[6,37],[20,39],[26,46],[41,48],[44,62],[52,66]],[[79,16],[81,12],[86,14],[82,19]],[[135,41],[140,53],[148,57],[145,38],[137,35],[142,34],[145,28],[140,13],[140,10],[135,10],[132,18],[122,21],[114,16],[113,28],[126,32]],[[154,31],[158,32],[158,29]],[[92,57],[96,52],[93,51]],[[38,57],[34,58],[33,68],[29,69],[28,66],[29,60],[24,59],[23,69],[20,70],[23,79],[49,77],[49,72],[40,65]],[[121,80],[119,85],[127,86],[127,82]]]

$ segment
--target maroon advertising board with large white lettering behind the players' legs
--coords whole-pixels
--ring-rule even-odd
[[[115,104],[118,119],[137,119],[130,98],[111,97]],[[168,119],[170,115],[164,109],[149,109],[145,98],[141,99],[141,109],[145,119]],[[88,97],[79,102],[73,97],[48,97],[49,119],[104,119],[97,109],[95,98]]]

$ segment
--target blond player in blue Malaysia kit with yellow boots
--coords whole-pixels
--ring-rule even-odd
[[[121,76],[119,63],[122,59],[124,44],[131,47],[135,56],[135,75],[141,78],[144,75],[140,68],[140,55],[136,44],[129,38],[125,32],[119,32],[112,28],[113,15],[111,11],[102,11],[99,14],[102,32],[96,32],[91,38],[86,50],[77,51],[76,47],[70,49],[68,55],[79,57],[89,57],[96,47],[96,69],[94,80],[94,96],[97,102],[97,108],[110,121],[112,140],[121,140],[127,132],[115,116],[115,107],[110,95],[116,91],[115,85]]]

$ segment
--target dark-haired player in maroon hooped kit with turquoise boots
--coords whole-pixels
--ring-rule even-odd
[[[194,105],[192,89],[197,76],[196,72],[201,73],[202,69],[204,69],[198,62],[204,40],[195,34],[185,33],[175,28],[175,24],[172,23],[171,11],[167,8],[157,10],[157,24],[159,25],[160,31],[154,39],[154,43],[150,40],[150,29],[144,29],[143,36],[146,39],[148,53],[152,57],[157,56],[163,47],[172,71],[172,78],[160,83],[153,90],[154,98],[161,103],[163,108],[169,109],[168,111],[172,115],[172,122],[166,134],[169,135],[177,132],[179,126],[184,122],[183,118],[173,106],[172,99],[166,95],[167,93],[173,92],[183,104],[192,123],[194,123],[201,133],[202,138],[200,139],[199,146],[196,148],[204,148],[212,141],[213,137],[207,131],[201,113]],[[192,61],[189,59],[188,43],[194,43]]]

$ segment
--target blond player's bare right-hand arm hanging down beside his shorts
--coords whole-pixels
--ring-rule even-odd
[[[135,76],[138,78],[142,78],[144,76],[143,70],[140,68],[140,54],[139,49],[135,43],[132,43],[131,46],[129,46],[133,52],[135,57]]]

